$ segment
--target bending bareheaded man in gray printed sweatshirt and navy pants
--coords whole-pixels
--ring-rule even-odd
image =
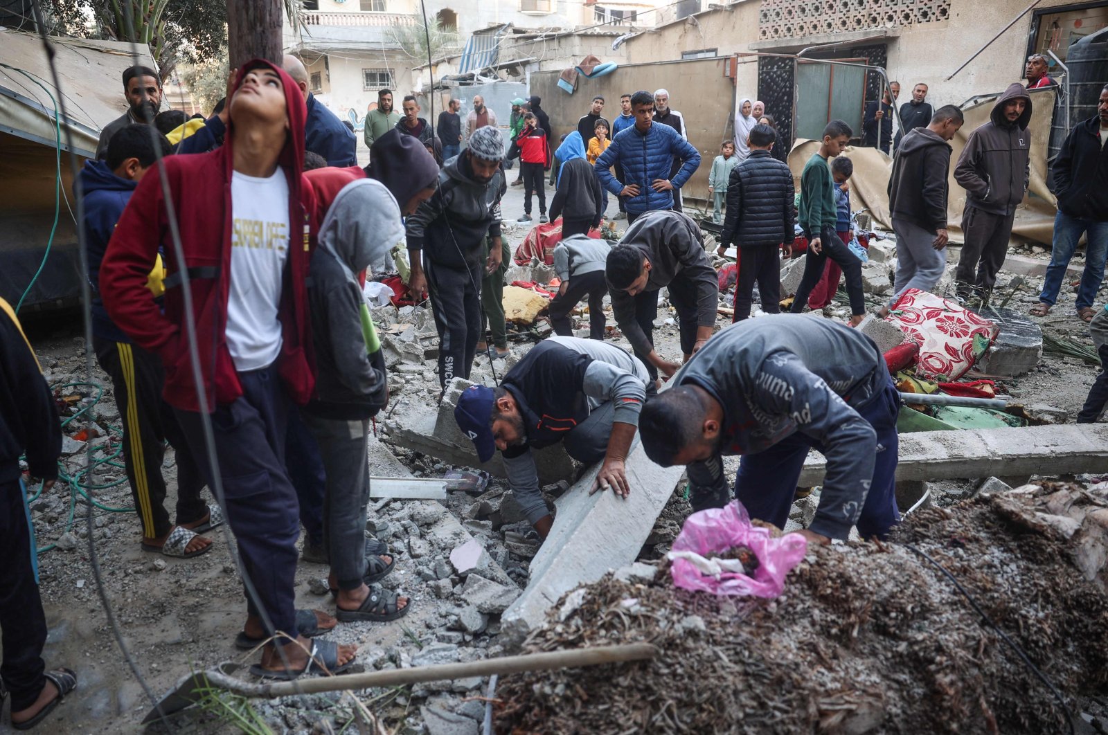
[[[896,393],[876,345],[830,320],[770,314],[729,327],[642,411],[646,455],[687,465],[693,510],[731,499],[722,455],[743,455],[735,496],[783,528],[808,451],[827,457],[809,541],[884,537],[900,521]]]

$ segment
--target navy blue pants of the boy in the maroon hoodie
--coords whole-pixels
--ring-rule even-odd
[[[274,630],[296,635],[296,540],[299,504],[285,470],[289,401],[273,365],[238,373],[243,395],[212,413],[223,513],[238,540],[243,569],[254,582]],[[201,472],[213,484],[201,415],[177,410]],[[252,615],[258,610],[246,596]],[[288,642],[285,640],[284,642]]]

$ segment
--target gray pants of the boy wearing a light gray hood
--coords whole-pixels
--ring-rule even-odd
[[[327,473],[324,539],[339,589],[356,590],[366,573],[366,505],[369,503],[369,420],[302,414],[319,444]]]

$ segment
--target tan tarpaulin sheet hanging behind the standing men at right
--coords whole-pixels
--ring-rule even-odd
[[[951,141],[951,175],[946,203],[946,221],[954,242],[962,241],[962,210],[965,208],[966,191],[954,180],[954,166],[965,147],[970,134],[989,120],[993,106],[1001,93],[984,102],[965,107],[965,124]],[[1054,236],[1054,217],[1057,204],[1047,188],[1047,144],[1050,138],[1050,121],[1054,115],[1055,91],[1050,87],[1033,90],[1032,120],[1027,130],[1032,134],[1030,183],[1023,204],[1016,209],[1016,220],[1012,228],[1016,241],[1032,241],[1049,246]],[[1075,121],[1078,122],[1078,121]],[[804,164],[819,149],[817,141],[797,141],[789,154],[789,168],[798,179]],[[850,179],[851,207],[865,208],[874,221],[886,230],[892,230],[889,216],[889,175],[892,158],[878,148],[848,147],[843,152],[854,164],[854,175]]]

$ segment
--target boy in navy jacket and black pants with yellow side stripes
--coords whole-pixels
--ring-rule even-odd
[[[138,182],[158,158],[173,153],[161,134],[157,143],[146,125],[127,125],[107,144],[106,161],[89,161],[81,170],[84,195],[84,245],[92,291],[92,348],[96,362],[107,373],[122,416],[123,465],[131,496],[138,509],[143,549],[161,550],[168,557],[196,557],[211,550],[212,541],[199,536],[218,526],[218,506],[211,508],[201,497],[204,479],[173,408],[162,398],[165,373],[157,354],[144,350],[115,325],[100,293],[100,263],[107,242]],[[155,147],[156,145],[156,147]],[[157,176],[157,172],[153,172]],[[162,270],[161,258],[154,271]],[[154,279],[153,296],[161,296],[161,278]],[[165,510],[166,485],[162,459],[166,441],[176,452],[176,522]],[[215,521],[215,522],[213,522]]]

